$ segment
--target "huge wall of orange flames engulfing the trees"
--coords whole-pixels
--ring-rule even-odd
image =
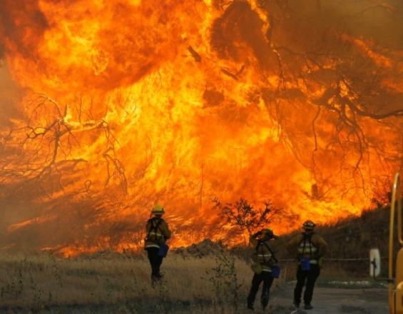
[[[364,2],[364,21],[402,9]],[[0,129],[6,243],[123,248],[154,203],[174,245],[223,238],[214,197],[271,200],[278,233],[370,207],[402,168],[403,48],[317,3],[3,0],[24,88]]]

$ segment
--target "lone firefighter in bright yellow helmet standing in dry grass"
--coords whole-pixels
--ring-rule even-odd
[[[164,213],[165,210],[163,206],[155,205],[151,211],[153,217],[149,219],[146,224],[147,236],[144,246],[148,253],[148,260],[150,260],[151,280],[153,283],[162,278],[160,265],[163,263],[163,258],[166,255],[164,249],[168,250],[168,246],[165,245],[165,242],[171,236],[168,223],[162,218]]]

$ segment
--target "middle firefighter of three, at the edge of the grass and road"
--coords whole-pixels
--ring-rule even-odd
[[[267,303],[269,303],[270,287],[274,280],[272,268],[277,265],[275,254],[270,248],[270,240],[272,239],[277,239],[277,236],[269,228],[262,229],[250,236],[249,239],[250,245],[255,248],[255,264],[252,265],[254,275],[252,278],[252,287],[248,295],[248,308],[250,310],[253,310],[257,290],[259,290],[260,283],[262,282],[263,288],[260,301],[263,310],[265,310]]]

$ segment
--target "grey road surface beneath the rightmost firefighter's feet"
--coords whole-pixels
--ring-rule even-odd
[[[312,310],[295,310],[292,302],[292,285],[285,285],[272,292],[270,309],[266,313],[273,314],[387,314],[386,288],[323,288],[316,287]],[[255,313],[262,313],[255,310]]]

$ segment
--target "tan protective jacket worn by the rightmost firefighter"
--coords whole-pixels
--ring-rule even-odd
[[[287,250],[297,255],[297,259],[308,258],[311,264],[321,264],[321,258],[326,254],[325,239],[315,233],[302,233],[287,243]]]

